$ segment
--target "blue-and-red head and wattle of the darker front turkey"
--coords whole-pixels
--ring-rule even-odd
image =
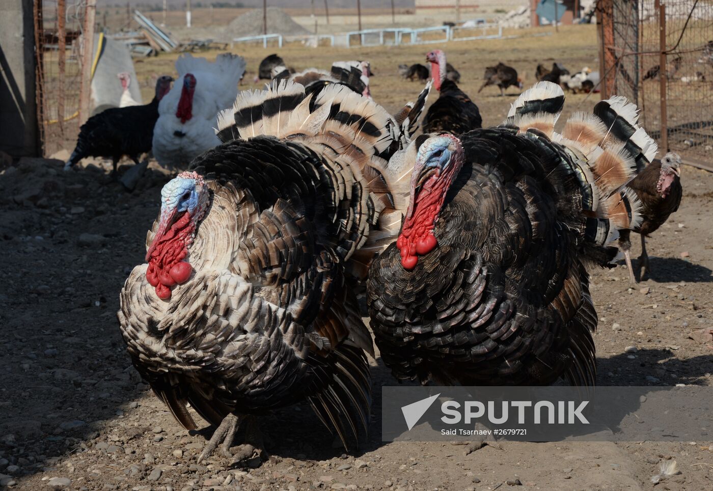
[[[419,148],[411,174],[411,202],[396,240],[405,269],[414,269],[417,254],[428,254],[438,244],[434,236],[438,213],[461,167],[463,147],[453,135],[431,137]]]

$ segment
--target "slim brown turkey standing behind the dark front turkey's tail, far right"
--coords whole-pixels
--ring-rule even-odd
[[[678,210],[681,204],[683,188],[681,187],[681,157],[677,153],[667,153],[660,162],[654,162],[639,172],[630,187],[641,202],[642,221],[634,232],[641,234],[641,268],[640,277],[643,279],[651,271],[649,256],[646,254],[646,239],[666,222],[668,217]],[[636,284],[634,269],[631,266],[631,230],[622,230],[619,238],[619,247],[624,253],[629,279]]]

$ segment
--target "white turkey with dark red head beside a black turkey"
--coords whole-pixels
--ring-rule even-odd
[[[175,66],[178,79],[158,105],[153,130],[153,155],[168,169],[185,168],[220,143],[213,130],[216,115],[235,101],[245,73],[245,60],[230,53],[218,55],[213,63],[185,53]]]

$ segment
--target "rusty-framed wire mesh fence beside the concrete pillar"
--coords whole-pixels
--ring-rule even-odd
[[[46,155],[76,138],[85,0],[35,0],[38,110]]]

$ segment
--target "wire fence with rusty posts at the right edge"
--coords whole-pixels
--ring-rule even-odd
[[[662,150],[713,162],[713,2],[600,0],[602,96],[625,95]]]

